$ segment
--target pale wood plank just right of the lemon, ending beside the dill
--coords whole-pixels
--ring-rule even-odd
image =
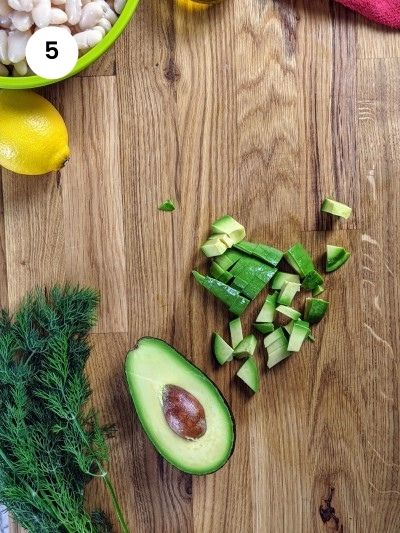
[[[62,197],[67,279],[100,289],[96,331],[126,332],[126,269],[117,90],[111,77],[63,85],[71,163]],[[69,98],[73,94],[74,98]]]

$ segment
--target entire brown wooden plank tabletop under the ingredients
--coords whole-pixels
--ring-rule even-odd
[[[202,13],[143,0],[102,61],[43,94],[72,158],[50,178],[2,172],[0,303],[55,281],[101,290],[90,377],[118,426],[111,470],[130,530],[399,532],[399,34],[325,0]],[[320,215],[326,195],[354,208],[348,222]],[[173,214],[157,210],[168,197]],[[190,275],[225,213],[255,241],[353,254],[328,279],[316,343],[268,373],[260,348],[253,398],[236,364],[215,367],[210,336],[228,314]],[[220,472],[184,475],[144,437],[122,374],[143,335],[226,394],[237,445]],[[90,499],[107,507],[100,486]]]

